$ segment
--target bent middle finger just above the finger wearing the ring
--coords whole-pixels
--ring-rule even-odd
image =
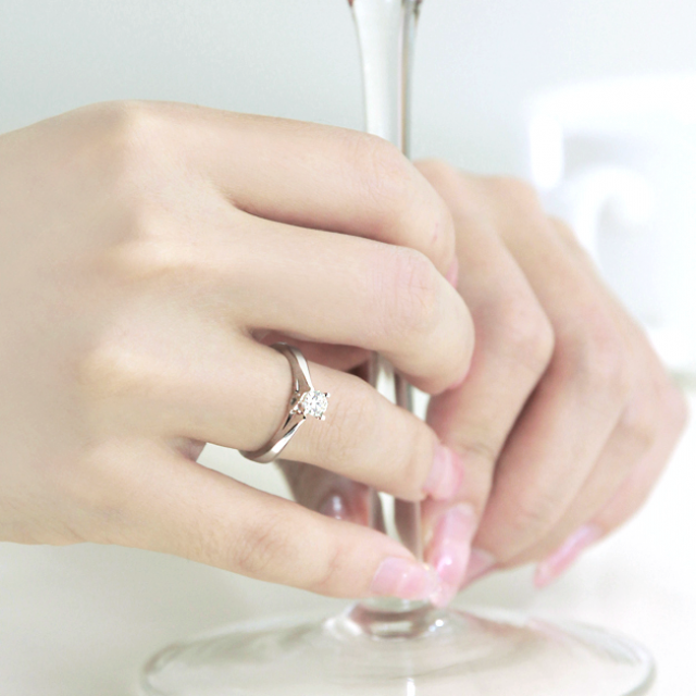
[[[430,393],[462,380],[473,349],[469,310],[422,253],[283,223],[247,222],[245,263],[225,245],[206,249],[201,260],[208,277],[217,278],[211,291],[236,323],[378,351]]]

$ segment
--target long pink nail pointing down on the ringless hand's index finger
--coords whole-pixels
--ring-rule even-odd
[[[435,525],[428,561],[440,579],[440,586],[430,598],[436,607],[445,607],[459,592],[475,529],[473,508],[464,504],[448,510]]]

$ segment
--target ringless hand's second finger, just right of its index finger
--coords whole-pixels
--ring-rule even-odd
[[[489,195],[500,234],[556,334],[549,368],[500,456],[474,540],[505,564],[546,536],[574,500],[623,413],[633,373],[622,327],[533,192],[493,179]]]

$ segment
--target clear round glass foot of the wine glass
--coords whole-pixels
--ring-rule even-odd
[[[599,629],[405,606],[233,624],[156,655],[141,686],[149,696],[638,696],[652,682],[648,652]]]

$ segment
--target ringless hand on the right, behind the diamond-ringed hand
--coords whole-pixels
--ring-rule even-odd
[[[434,161],[419,169],[452,212],[458,289],[476,334],[465,381],[431,399],[427,414],[463,471],[453,499],[422,506],[444,605],[493,569],[540,561],[537,585],[556,577],[645,501],[686,410],[643,332],[529,185]],[[363,486],[313,470],[293,482],[326,514],[364,522]]]

